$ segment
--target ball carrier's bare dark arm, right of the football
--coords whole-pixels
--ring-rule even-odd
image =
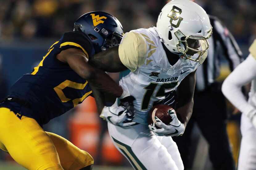
[[[196,72],[193,72],[181,81],[178,88],[178,109],[176,109],[176,112],[179,113],[181,118],[180,121],[184,123],[185,127],[192,115],[195,85]]]

